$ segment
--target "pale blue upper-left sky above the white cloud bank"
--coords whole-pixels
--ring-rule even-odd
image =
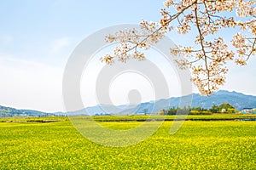
[[[67,58],[47,58],[53,43],[67,44],[66,52],[71,53],[90,33],[106,26],[138,23],[143,17],[155,20],[161,7],[157,1],[2,1],[1,54],[57,64]]]

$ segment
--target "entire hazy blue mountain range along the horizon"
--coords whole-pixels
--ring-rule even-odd
[[[187,96],[188,97],[188,96]],[[191,107],[202,107],[209,109],[212,105],[221,105],[229,103],[241,111],[245,107],[256,108],[256,96],[245,95],[237,92],[229,92],[219,90],[212,96],[201,96],[200,94],[192,94]],[[189,99],[189,98],[184,98]],[[180,104],[181,97],[160,99],[157,101],[144,102],[140,105],[96,105],[87,107],[81,111],[74,111],[71,115],[106,115],[106,114],[141,114],[144,112],[159,112],[162,109],[177,107]],[[189,104],[189,100],[185,103]],[[42,111],[17,110],[11,107],[0,105],[0,117],[3,116],[60,116],[66,115],[63,112],[45,113]]]

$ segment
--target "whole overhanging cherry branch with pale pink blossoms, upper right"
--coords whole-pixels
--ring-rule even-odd
[[[178,34],[187,34],[191,27],[195,26],[198,36],[195,37],[194,44],[172,48],[171,54],[184,55],[184,59],[176,59],[177,65],[181,69],[189,68],[192,72],[191,81],[201,94],[209,95],[224,84],[228,71],[227,61],[235,60],[238,65],[246,65],[247,60],[256,54],[255,1],[166,0],[164,4],[166,8],[172,9],[172,12],[166,8],[161,9],[162,18],[159,23],[143,20],[140,31],[119,31],[106,37],[108,42],[119,42],[120,45],[114,48],[113,54],[107,54],[101,60],[110,65],[115,59],[121,62],[131,58],[143,60],[145,56],[140,49],[149,49],[168,31],[173,31],[174,27],[177,28]],[[236,19],[242,18],[243,21],[235,20],[232,15],[234,10]],[[222,29],[242,31],[237,32],[231,41],[232,46],[236,48],[236,57],[224,39],[215,36]]]

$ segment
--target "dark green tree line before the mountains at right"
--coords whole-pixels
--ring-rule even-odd
[[[212,105],[210,109],[201,107],[172,107],[170,109],[163,109],[159,112],[160,115],[212,115],[214,113],[237,113],[236,108],[230,104]]]

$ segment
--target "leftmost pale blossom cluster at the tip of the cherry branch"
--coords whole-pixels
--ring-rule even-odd
[[[112,65],[115,59],[126,62],[127,59],[144,60],[145,55],[141,50],[148,50],[152,44],[157,43],[166,34],[166,27],[161,27],[156,22],[143,20],[140,29],[118,31],[106,37],[107,42],[119,42],[113,49],[113,54],[106,54],[102,62]]]

